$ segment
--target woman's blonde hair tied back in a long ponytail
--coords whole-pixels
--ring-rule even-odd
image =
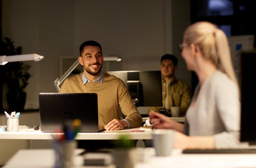
[[[184,41],[198,46],[203,57],[213,62],[238,85],[227,36],[221,29],[210,22],[196,22],[185,30]]]

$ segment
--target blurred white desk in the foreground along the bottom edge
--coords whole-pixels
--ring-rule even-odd
[[[4,168],[50,168],[53,167],[54,153],[51,149],[20,150]],[[83,158],[76,157],[75,167],[83,167]],[[112,166],[113,167],[113,166]],[[137,162],[135,168],[182,167],[182,168],[252,168],[256,167],[256,154],[182,154],[174,150],[170,157],[151,157],[147,162]]]

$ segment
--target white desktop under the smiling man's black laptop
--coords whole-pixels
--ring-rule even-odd
[[[142,132],[136,132],[136,131]],[[0,132],[0,139],[37,139],[37,140],[45,140],[45,139],[53,139],[52,135],[56,133],[48,133],[41,132],[36,130],[34,132]],[[120,134],[128,134],[130,139],[152,139],[151,137],[151,129],[142,129],[142,128],[133,128],[127,130],[119,130],[119,131],[105,131],[105,132],[80,132],[76,139],[78,140],[111,140],[111,139],[119,139]]]

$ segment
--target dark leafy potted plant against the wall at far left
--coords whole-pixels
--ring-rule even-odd
[[[21,53],[22,47],[15,48],[11,39],[4,38],[4,41],[1,41],[0,55],[20,55]],[[29,68],[30,65],[24,62],[8,62],[1,66],[2,81],[8,87],[6,99],[10,111],[22,111],[24,109],[26,100],[24,89],[31,77],[28,72]]]

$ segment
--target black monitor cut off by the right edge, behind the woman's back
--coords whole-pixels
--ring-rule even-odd
[[[241,52],[241,141],[256,142],[256,50]]]

